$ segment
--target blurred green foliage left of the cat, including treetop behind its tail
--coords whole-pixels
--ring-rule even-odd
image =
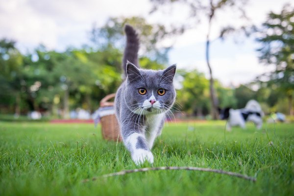
[[[104,27],[93,28],[92,41],[96,44],[93,48],[56,52],[40,45],[33,53],[22,55],[14,41],[3,39],[0,41],[0,111],[56,114],[57,109],[96,110],[99,101],[114,93],[122,82],[126,23],[138,29],[141,50],[149,56],[140,57],[142,67],[163,69],[160,61],[167,60],[168,49],[162,53],[156,43],[168,32],[163,26],[150,25],[139,17],[111,18]]]

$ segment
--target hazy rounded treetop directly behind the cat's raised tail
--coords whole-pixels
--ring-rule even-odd
[[[109,18],[106,24],[97,28],[95,25],[91,30],[90,40],[94,48],[105,50],[107,48],[117,48],[123,50],[125,46],[124,26],[132,25],[140,37],[139,53],[148,56],[151,60],[160,63],[167,62],[168,52],[172,46],[159,47],[160,40],[172,34],[179,33],[179,30],[168,30],[164,25],[149,24],[144,18]]]

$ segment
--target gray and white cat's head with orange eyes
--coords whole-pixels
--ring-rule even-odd
[[[144,70],[127,62],[124,99],[128,108],[138,114],[169,111],[176,96],[173,86],[175,70],[175,65],[160,71]]]

